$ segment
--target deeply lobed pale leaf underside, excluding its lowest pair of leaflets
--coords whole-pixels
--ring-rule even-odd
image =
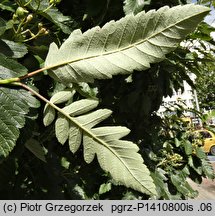
[[[57,108],[55,132],[58,141],[65,144],[68,140],[73,153],[83,144],[85,161],[91,163],[97,156],[100,166],[118,184],[149,195],[156,194],[149,170],[138,153],[139,148],[130,141],[120,140],[130,130],[121,126],[95,128],[112,113],[108,109],[93,111],[97,105],[96,100],[83,99],[62,109]]]

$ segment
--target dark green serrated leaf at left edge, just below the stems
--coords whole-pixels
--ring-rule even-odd
[[[7,157],[13,150],[29,108],[38,106],[29,92],[0,87],[0,157]]]

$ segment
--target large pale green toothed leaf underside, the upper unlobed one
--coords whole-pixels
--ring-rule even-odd
[[[145,70],[174,50],[208,12],[208,8],[193,4],[165,6],[85,33],[75,30],[60,48],[50,45],[46,68],[64,84]]]

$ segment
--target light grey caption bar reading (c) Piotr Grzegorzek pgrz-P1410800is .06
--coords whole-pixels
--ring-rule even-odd
[[[6,200],[0,201],[0,215],[22,216],[209,216],[215,215],[215,200]]]

